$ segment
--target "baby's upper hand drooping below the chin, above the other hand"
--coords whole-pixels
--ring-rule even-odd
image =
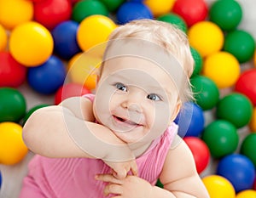
[[[108,167],[113,170],[113,176],[115,178],[125,178],[127,174],[131,173],[137,176],[137,163],[135,160],[131,161],[104,161]]]

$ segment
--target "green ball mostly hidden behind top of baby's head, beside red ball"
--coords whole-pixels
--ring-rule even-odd
[[[160,17],[158,17],[156,20],[164,21],[173,25],[177,25],[177,27],[182,30],[183,32],[188,31],[188,27],[186,22],[177,14],[169,13],[169,14],[163,14]]]

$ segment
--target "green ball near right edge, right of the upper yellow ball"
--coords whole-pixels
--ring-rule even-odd
[[[230,31],[224,41],[224,51],[236,56],[240,63],[245,63],[253,58],[255,41],[247,31]]]

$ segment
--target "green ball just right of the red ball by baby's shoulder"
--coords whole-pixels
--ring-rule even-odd
[[[205,127],[201,139],[207,144],[214,158],[227,156],[236,151],[239,136],[230,122],[216,120]]]

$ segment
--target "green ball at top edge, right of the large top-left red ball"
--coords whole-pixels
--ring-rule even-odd
[[[73,6],[72,20],[80,23],[86,17],[93,14],[108,16],[108,8],[98,0],[82,0]]]

